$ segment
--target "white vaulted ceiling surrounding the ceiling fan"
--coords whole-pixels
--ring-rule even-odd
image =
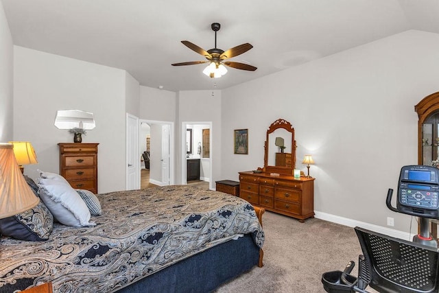
[[[126,69],[169,91],[224,89],[406,30],[439,33],[438,0],[1,0],[15,45]],[[211,49],[250,43],[222,78],[180,43]],[[397,48],[395,48],[397,49]]]

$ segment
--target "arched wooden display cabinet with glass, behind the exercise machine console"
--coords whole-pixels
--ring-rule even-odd
[[[439,92],[427,95],[414,106],[418,113],[418,164],[438,167]]]

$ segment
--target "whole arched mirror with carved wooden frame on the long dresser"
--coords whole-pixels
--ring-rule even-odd
[[[284,119],[277,119],[267,130],[264,172],[292,175],[296,166],[294,128]]]

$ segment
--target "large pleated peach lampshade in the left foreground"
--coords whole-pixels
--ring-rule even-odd
[[[21,174],[13,145],[0,143],[0,218],[32,209],[40,202]]]

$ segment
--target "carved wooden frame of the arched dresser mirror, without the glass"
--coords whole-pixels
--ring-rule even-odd
[[[269,154],[269,148],[268,145],[270,143],[270,133],[274,132],[275,130],[283,128],[287,130],[287,132],[291,132],[292,134],[292,141],[291,141],[291,154],[292,154],[292,166],[291,167],[279,167],[279,166],[271,166],[268,165],[268,154]],[[278,174],[284,174],[284,175],[292,175],[294,174],[294,168],[296,167],[296,141],[294,140],[294,128],[285,119],[277,119],[274,121],[270,127],[267,130],[267,140],[265,141],[265,152],[264,152],[264,158],[263,158],[263,172],[268,173],[278,173]]]

